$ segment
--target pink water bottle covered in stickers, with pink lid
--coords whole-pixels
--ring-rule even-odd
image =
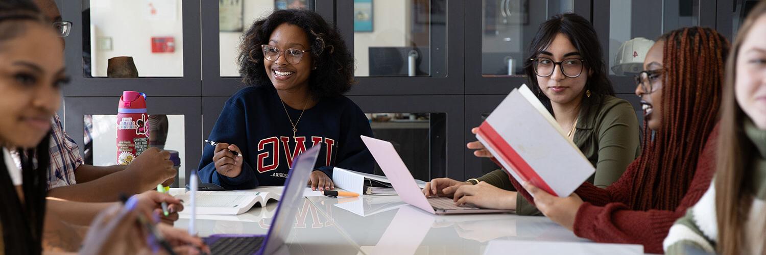
[[[128,165],[149,147],[146,95],[123,91],[117,106],[117,164]]]

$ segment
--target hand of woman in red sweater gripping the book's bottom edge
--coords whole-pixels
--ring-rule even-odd
[[[555,195],[550,195],[548,192],[535,187],[535,185],[529,182],[524,184],[524,188],[535,197],[535,206],[537,206],[542,214],[545,214],[551,221],[555,221],[568,230],[574,230],[577,211],[580,205],[583,204],[580,196],[572,193],[566,198],[559,198]]]

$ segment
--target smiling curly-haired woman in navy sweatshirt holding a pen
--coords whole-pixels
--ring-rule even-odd
[[[227,189],[284,185],[293,159],[322,146],[312,188],[332,189],[332,168],[372,173],[359,135],[362,110],[342,96],[353,58],[338,32],[313,11],[281,10],[255,21],[237,61],[248,85],[226,101],[205,144],[199,177]],[[236,153],[235,153],[236,152]]]

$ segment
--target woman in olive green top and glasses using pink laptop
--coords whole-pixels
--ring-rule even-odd
[[[593,26],[575,14],[555,15],[540,26],[529,48],[525,71],[532,92],[596,167],[588,181],[606,188],[639,154],[639,130],[630,103],[614,97]],[[476,156],[492,156],[479,142],[470,142],[468,148],[480,149],[474,152]],[[502,169],[465,182],[436,178],[426,184],[424,194],[453,196],[458,188],[460,195],[456,197],[463,197],[462,202],[482,208],[515,204],[506,209],[523,215],[539,214],[528,201],[517,198],[509,175]]]

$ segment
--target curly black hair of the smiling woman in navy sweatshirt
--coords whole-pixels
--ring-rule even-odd
[[[316,70],[309,76],[309,93],[314,98],[322,98],[341,96],[349,91],[354,83],[354,58],[338,31],[322,16],[309,10],[274,11],[247,29],[242,35],[237,57],[242,82],[247,86],[273,87],[264,67],[264,52],[260,45],[267,44],[274,29],[285,23],[302,28],[311,42]]]

